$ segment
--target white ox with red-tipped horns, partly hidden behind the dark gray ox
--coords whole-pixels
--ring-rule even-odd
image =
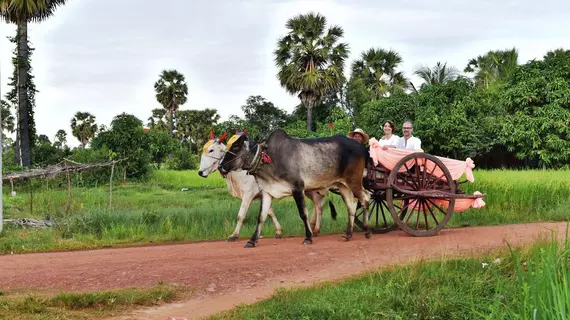
[[[224,133],[219,139],[214,137],[214,133],[210,132],[210,140],[206,142],[203,146],[202,156],[200,157],[200,169],[198,170],[198,175],[203,178],[208,177],[210,173],[213,173],[218,169],[218,165],[220,164],[220,160],[225,155],[226,145],[224,144],[226,139],[227,133]],[[228,191],[230,195],[234,198],[241,199],[241,205],[238,211],[237,216],[237,224],[234,229],[234,232],[228,237],[227,241],[235,241],[239,237],[239,233],[241,227],[243,225],[243,220],[247,214],[251,203],[258,199],[261,200],[262,198],[262,191],[259,188],[257,182],[255,181],[255,177],[252,175],[248,175],[247,171],[245,170],[232,170],[229,171],[227,174],[222,175],[226,180]],[[311,227],[315,230],[315,235],[318,233],[320,229],[320,222],[322,216],[322,195],[321,193],[317,192],[308,192],[307,197],[309,197],[313,203],[315,204],[313,209],[313,215],[311,217]],[[321,204],[320,206],[317,204]],[[331,215],[333,220],[336,220],[336,210],[334,205],[329,200],[329,206],[331,209]],[[261,208],[260,208],[261,210]],[[273,211],[273,207],[269,207],[269,212],[267,213],[271,219],[273,220],[273,224],[275,225],[275,238],[281,238],[283,236],[283,231],[281,229],[281,224],[277,220],[275,216],[275,212]]]

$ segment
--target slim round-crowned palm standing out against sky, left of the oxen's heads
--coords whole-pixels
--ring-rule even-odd
[[[174,136],[174,112],[188,100],[188,85],[184,75],[176,70],[163,70],[154,84],[156,100],[168,112],[170,134]]]

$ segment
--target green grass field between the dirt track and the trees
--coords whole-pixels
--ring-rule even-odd
[[[533,221],[565,221],[570,217],[570,171],[475,171],[467,192],[488,194],[487,206],[455,214],[447,227],[497,225]],[[9,195],[4,186],[5,218],[51,217],[59,228],[42,230],[5,226],[0,234],[0,253],[20,253],[126,244],[226,239],[235,227],[241,201],[231,197],[216,172],[204,179],[195,171],[155,171],[146,183],[116,184],[113,207],[108,208],[108,186],[73,188],[71,210],[65,213],[67,190],[44,187],[33,191],[30,214],[27,190]],[[182,191],[184,190],[186,191]],[[339,196],[331,194],[339,217],[333,221],[328,206],[322,233],[342,233],[347,214]],[[304,234],[292,198],[274,201],[285,236]],[[309,209],[312,203],[308,202]],[[241,230],[242,238],[253,233],[259,202],[250,207]],[[358,228],[355,228],[358,230]],[[274,234],[267,219],[264,236]]]

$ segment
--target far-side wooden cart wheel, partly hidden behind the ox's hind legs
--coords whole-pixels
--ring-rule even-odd
[[[354,224],[364,231],[364,210],[358,203],[354,216]],[[405,216],[406,211],[403,212]],[[403,216],[402,216],[403,218]],[[398,229],[398,224],[394,222],[392,214],[386,203],[386,192],[384,190],[371,192],[370,203],[368,205],[368,226],[374,234],[387,233]]]

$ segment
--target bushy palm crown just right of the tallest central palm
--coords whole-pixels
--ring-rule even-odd
[[[372,96],[379,99],[410,87],[404,73],[396,72],[402,62],[402,57],[394,50],[371,48],[352,63],[352,76],[361,78]]]

